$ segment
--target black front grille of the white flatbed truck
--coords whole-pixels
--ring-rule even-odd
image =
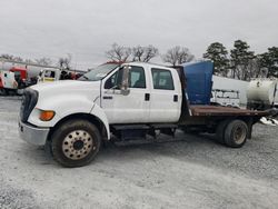
[[[22,96],[22,102],[20,107],[20,120],[27,122],[32,109],[38,102],[38,91],[32,89],[26,89]]]

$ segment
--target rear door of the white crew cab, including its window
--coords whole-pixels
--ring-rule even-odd
[[[181,84],[173,69],[150,69],[150,122],[177,122],[181,113]]]

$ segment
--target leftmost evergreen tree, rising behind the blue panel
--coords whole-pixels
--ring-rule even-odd
[[[215,74],[227,77],[229,68],[228,51],[220,42],[211,43],[207,52],[203,53],[203,58],[210,59],[215,64]]]

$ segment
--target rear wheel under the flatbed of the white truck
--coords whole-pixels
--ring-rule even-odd
[[[232,120],[228,123],[224,133],[225,145],[231,148],[240,148],[247,141],[248,127],[242,120]]]

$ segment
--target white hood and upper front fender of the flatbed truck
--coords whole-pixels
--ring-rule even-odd
[[[72,113],[89,113],[100,103],[101,81],[63,80],[30,87],[38,92],[38,101],[28,122],[38,127],[52,127]],[[40,110],[53,110],[51,121],[39,120]]]

